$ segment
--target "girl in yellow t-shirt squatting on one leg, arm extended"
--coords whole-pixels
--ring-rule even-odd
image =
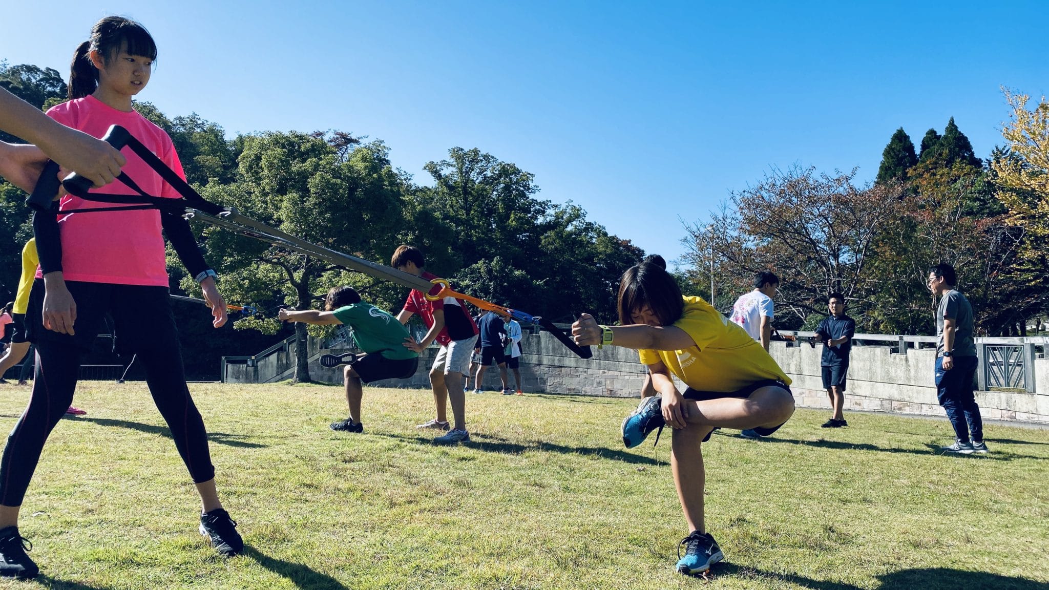
[[[701,443],[715,427],[775,431],[794,413],[790,378],[743,328],[702,298],[683,297],[657,265],[642,262],[623,273],[619,320],[621,325],[598,325],[582,314],[572,335],[578,344],[635,349],[648,365],[657,395],[623,421],[623,442],[634,447],[664,424],[672,428],[670,469],[690,530],[677,570],[700,573],[723,559],[704,525]],[[684,392],[671,374],[685,383]]]

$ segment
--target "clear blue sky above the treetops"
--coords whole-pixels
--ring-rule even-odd
[[[1044,2],[3,2],[0,59],[68,75],[106,15],[156,39],[140,94],[228,132],[339,129],[395,166],[477,147],[541,198],[676,258],[770,167],[877,173],[955,117],[986,156],[1001,85],[1049,94]]]

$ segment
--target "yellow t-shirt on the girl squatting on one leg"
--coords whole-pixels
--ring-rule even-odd
[[[727,394],[764,379],[790,384],[790,378],[746,330],[701,297],[684,299],[685,311],[673,324],[691,336],[695,345],[683,351],[639,351],[641,362],[662,360],[678,379],[700,392]]]

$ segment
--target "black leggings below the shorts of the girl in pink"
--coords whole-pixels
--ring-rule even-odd
[[[197,412],[183,368],[177,340],[162,338],[156,346],[137,351],[146,367],[146,382],[153,402],[171,428],[178,455],[194,483],[215,477],[208,451],[208,435]],[[37,370],[29,405],[7,436],[0,462],[0,504],[21,506],[40,452],[51,429],[72,403],[83,349],[67,342],[37,343]]]

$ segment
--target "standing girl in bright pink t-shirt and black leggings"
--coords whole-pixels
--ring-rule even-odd
[[[71,100],[47,114],[97,138],[110,125],[121,125],[185,177],[171,139],[136,112],[131,102],[149,82],[155,59],[156,45],[141,24],[121,17],[100,20],[90,40],[73,55]],[[178,197],[137,156],[128,160],[124,171],[144,191]],[[99,190],[132,194],[121,183]],[[180,216],[155,209],[63,214],[112,206],[62,194],[50,212],[34,216],[40,269],[25,323],[29,340],[37,345],[37,375],[29,405],[8,437],[0,464],[0,575],[33,577],[38,573],[22,549],[19,508],[44,442],[72,401],[81,358],[106,314],[113,318],[116,350],[137,354],[146,366],[153,401],[200,493],[200,533],[220,553],[240,553],[243,542],[218,500],[204,421],[186,385],[168,297],[165,234],[190,275],[200,282],[213,323],[219,328],[227,317],[216,275]]]

